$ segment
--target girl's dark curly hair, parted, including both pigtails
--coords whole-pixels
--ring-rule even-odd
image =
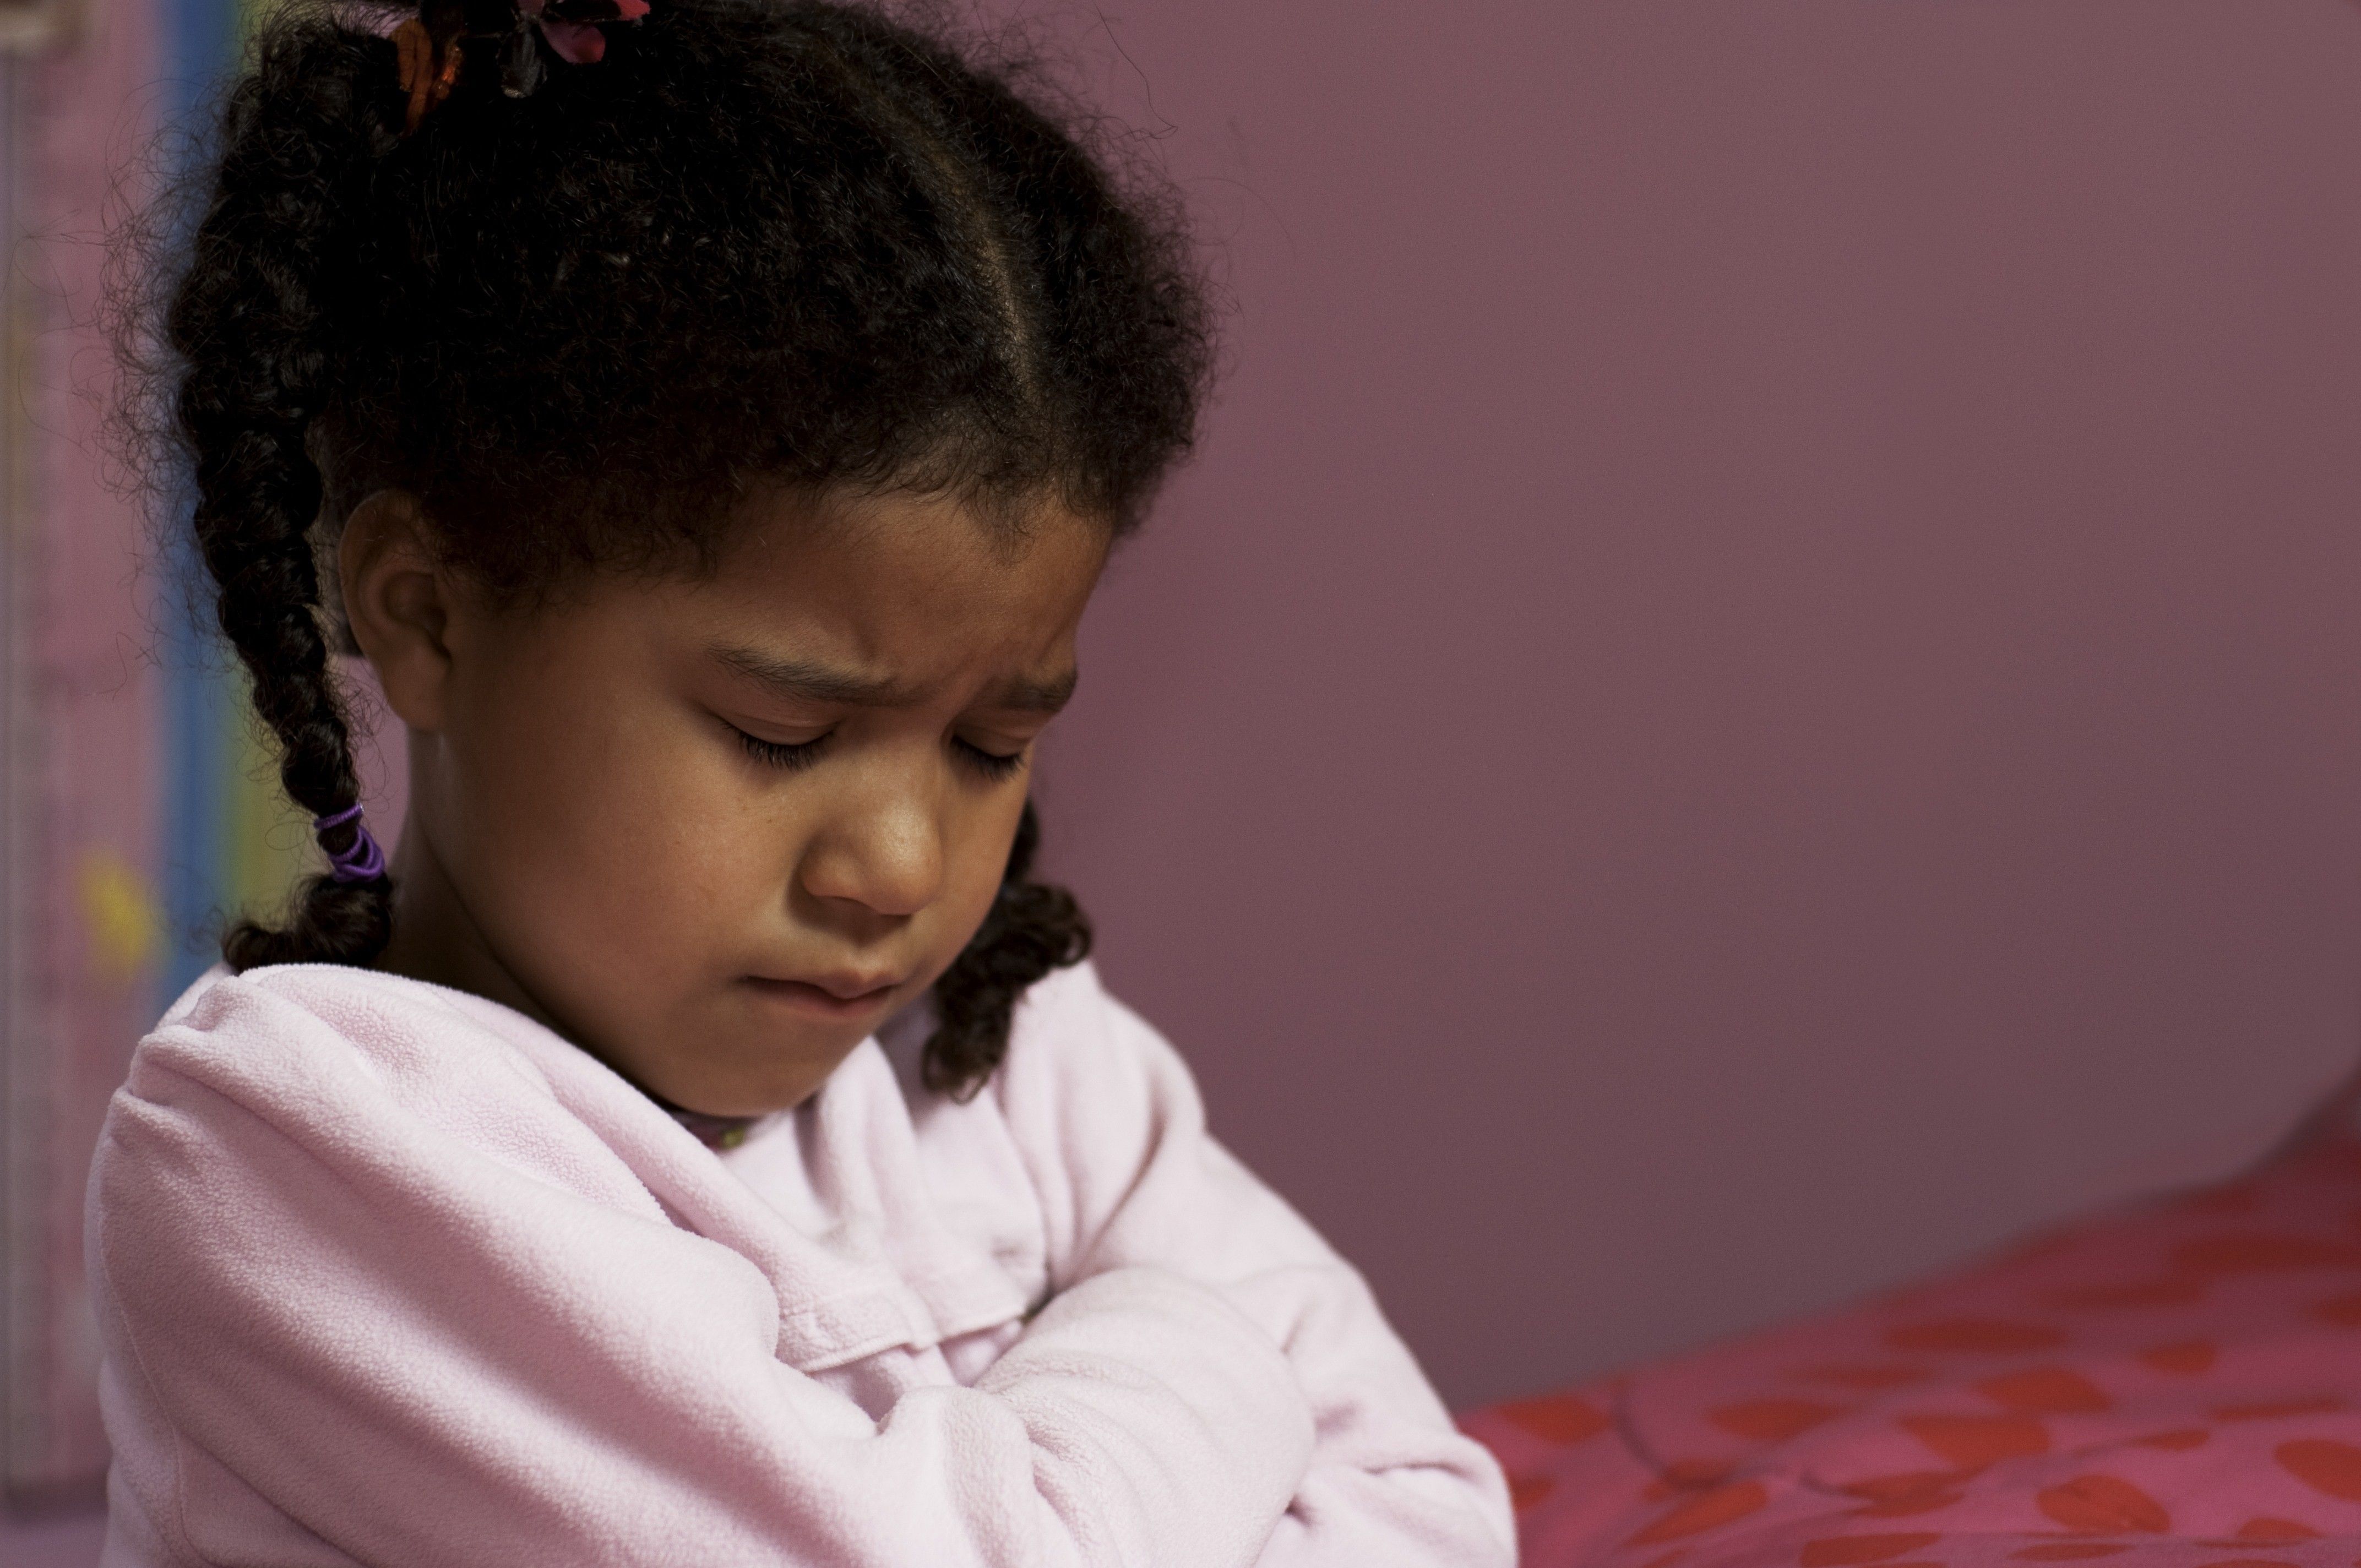
[[[534,600],[711,567],[756,482],[1055,498],[1124,534],[1188,451],[1209,316],[1178,203],[1022,61],[855,5],[659,0],[527,97],[467,59],[406,135],[401,14],[262,24],[156,326],[220,626],[307,812],[359,801],[321,583],[373,489]],[[1027,805],[935,985],[940,1091],[973,1093],[1025,987],[1088,952],[1036,841]],[[222,952],[368,966],[390,935],[390,878],[314,876]]]

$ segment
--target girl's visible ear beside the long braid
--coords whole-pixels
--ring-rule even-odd
[[[385,489],[352,508],[335,571],[345,623],[378,673],[385,706],[411,730],[439,732],[451,687],[451,619],[460,605],[418,496]]]

